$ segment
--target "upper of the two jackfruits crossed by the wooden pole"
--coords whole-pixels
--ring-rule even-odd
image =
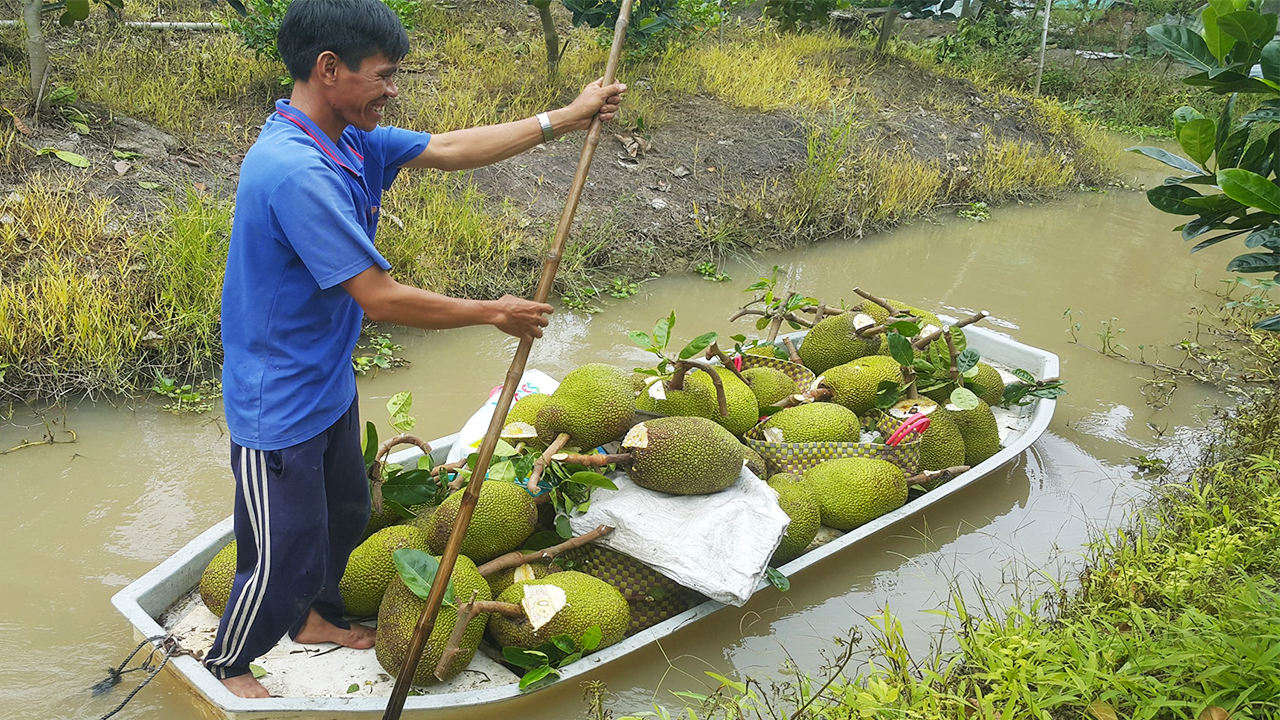
[[[431,552],[444,552],[465,492],[466,488],[454,491],[426,523],[426,542],[431,546]],[[471,515],[471,524],[467,525],[467,534],[462,538],[461,552],[476,562],[488,562],[520,547],[520,543],[534,534],[536,523],[538,507],[524,486],[486,482],[480,486],[480,497]]]

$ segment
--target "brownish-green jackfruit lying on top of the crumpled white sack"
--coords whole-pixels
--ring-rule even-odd
[[[631,454],[631,480],[672,495],[707,495],[737,482],[741,447],[732,433],[707,418],[645,420],[622,439],[622,448]]]

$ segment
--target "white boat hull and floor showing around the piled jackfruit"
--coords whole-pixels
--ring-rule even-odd
[[[1059,375],[1057,356],[1052,352],[1023,345],[1001,333],[984,328],[969,327],[965,328],[965,334],[969,345],[982,354],[983,360],[996,365],[997,368],[1021,368],[1030,372],[1037,379],[1056,378]],[[827,534],[829,538],[828,542],[812,548],[805,555],[801,555],[800,557],[783,565],[780,570],[785,575],[792,575],[809,566],[817,565],[827,557],[847,550],[858,541],[911,518],[925,507],[945,502],[952,493],[960,492],[965,487],[979,482],[988,473],[1021,455],[1023,451],[1025,451],[1048,427],[1050,419],[1053,415],[1053,400],[1037,400],[1034,404],[1021,409],[1000,411],[997,419],[1001,424],[1004,447],[995,456],[950,480],[948,483],[924,493],[923,496],[910,500],[902,507],[861,525],[860,528],[844,534],[836,534],[832,530]],[[452,447],[456,437],[457,436],[448,436],[431,442],[433,455],[436,456],[436,461],[444,460],[444,456]],[[420,455],[420,450],[410,448],[393,455],[392,460],[408,465],[410,462],[416,461]],[[146,575],[131,583],[111,598],[111,603],[122,614],[124,614],[124,616],[133,625],[134,634],[140,641],[146,637],[164,635],[174,632],[175,625],[179,625],[183,621],[184,612],[189,615],[191,612],[198,611],[206,614],[209,618],[212,618],[212,615],[204,609],[202,603],[200,603],[198,591],[196,588],[200,584],[200,575],[209,564],[210,559],[224,544],[230,542],[230,539],[232,519],[228,518],[187,543],[187,546],[180,551],[161,562]],[[765,587],[767,585],[762,583],[760,589]],[[573,680],[575,678],[588,675],[596,666],[623,657],[637,648],[667,637],[685,625],[721,610],[722,607],[724,607],[724,605],[716,601],[703,602],[701,605],[698,605],[675,618],[631,635],[618,644],[589,655],[582,660],[562,669],[559,682]],[[205,630],[205,633],[207,634],[207,630]],[[209,638],[205,638],[206,647],[209,644],[207,639]],[[289,644],[292,643],[288,641],[282,642],[282,646]],[[184,646],[188,646],[186,639]],[[351,651],[347,648],[339,648],[337,652],[329,652],[325,653],[324,657],[320,657],[320,653],[316,653],[315,651],[312,651],[314,655],[303,653],[301,647],[302,646],[293,644],[292,650],[288,647],[278,650],[284,655],[292,653],[293,657],[307,664],[303,669],[297,671],[297,674],[305,675],[311,680],[319,679],[320,683],[314,684],[320,688],[320,694],[305,696],[298,693],[292,697],[244,700],[229,693],[221,683],[209,674],[209,671],[206,671],[195,657],[177,656],[169,662],[168,667],[177,673],[214,708],[227,717],[257,719],[287,715],[291,717],[316,716],[333,719],[355,716],[358,714],[364,714],[365,716],[376,716],[383,711],[387,705],[387,696],[390,693],[393,680],[385,675],[380,667],[378,667],[376,661],[372,660],[372,651]],[[481,650],[484,650],[484,646],[481,646]],[[454,678],[449,683],[421,688],[422,694],[407,698],[404,705],[406,712],[415,714],[436,708],[480,706],[500,702],[522,694],[522,691],[518,688],[520,676],[504,667],[502,664],[497,662],[494,657],[497,657],[495,653],[493,657],[489,657],[485,656],[484,652],[477,652],[476,659],[472,661],[468,670],[475,669],[479,671],[463,671],[462,675]],[[283,667],[283,664],[289,661],[280,660],[282,665],[269,666],[268,661],[264,660],[262,665],[269,666],[273,673],[287,673],[287,669],[276,670],[276,667]],[[379,676],[365,680],[364,683],[355,683],[360,684],[360,689],[357,692],[343,692],[348,688],[346,678],[352,676],[352,667],[358,667],[361,664],[366,667],[366,670],[364,670],[365,673]],[[355,671],[360,673],[361,670],[357,669]],[[325,673],[339,674],[337,676],[325,678]],[[347,675],[340,675],[340,673],[347,673]],[[264,683],[268,684],[269,689],[271,689],[269,679],[264,679]]]

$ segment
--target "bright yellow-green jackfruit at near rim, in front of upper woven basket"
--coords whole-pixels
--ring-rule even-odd
[[[822,524],[851,530],[906,502],[906,479],[897,465],[870,457],[827,460],[804,474],[818,501]]]

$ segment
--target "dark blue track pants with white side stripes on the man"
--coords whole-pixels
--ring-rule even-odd
[[[369,523],[356,402],[319,436],[284,450],[232,442],[236,580],[205,666],[220,679],[284,637],[311,609],[339,628],[338,580]]]

